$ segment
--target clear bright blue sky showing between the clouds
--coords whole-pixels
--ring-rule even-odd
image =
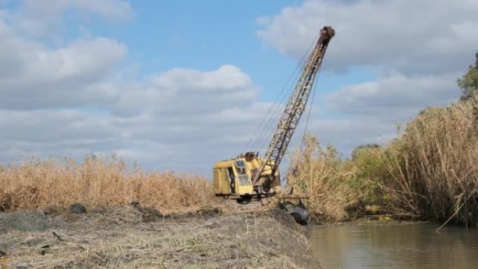
[[[273,101],[298,59],[263,43],[256,35],[258,20],[300,2],[208,1],[205,5],[200,1],[171,1],[164,6],[158,1],[136,1],[131,2],[134,11],[129,20],[119,24],[94,20],[89,23],[88,31],[126,43],[129,49],[126,66],[136,66],[138,75],[171,68],[207,71],[233,64],[261,87],[261,100]],[[77,35],[82,34],[83,29],[75,23],[65,27],[65,31],[75,27]],[[321,27],[317,25],[317,33]],[[310,41],[314,38],[310,36]],[[324,73],[326,69],[325,66]],[[347,74],[322,75],[320,88],[321,92],[330,92],[374,78],[374,72],[368,68],[351,66]]]

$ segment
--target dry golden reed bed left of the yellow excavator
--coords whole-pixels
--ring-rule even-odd
[[[39,160],[31,158],[0,168],[0,210],[89,207],[138,202],[162,213],[186,212],[215,205],[212,184],[187,174],[129,170],[115,157]]]

